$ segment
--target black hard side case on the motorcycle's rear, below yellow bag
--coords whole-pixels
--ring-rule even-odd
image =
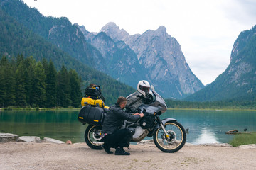
[[[104,108],[90,105],[83,106],[78,114],[78,120],[83,124],[102,125],[104,113]]]

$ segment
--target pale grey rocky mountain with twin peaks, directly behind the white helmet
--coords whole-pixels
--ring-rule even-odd
[[[104,32],[114,42],[124,41],[137,55],[147,80],[159,89],[164,97],[183,98],[204,86],[191,72],[181,46],[160,26],[157,30],[147,30],[142,35],[129,35],[115,23],[107,23]]]

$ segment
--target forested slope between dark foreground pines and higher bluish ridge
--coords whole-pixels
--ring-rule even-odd
[[[75,60],[48,40],[18,23],[1,9],[0,21],[0,57],[5,55],[10,58],[22,54],[24,57],[33,56],[36,61],[46,58],[47,61],[52,60],[57,70],[60,70],[64,64],[67,69],[75,69],[78,72],[82,78],[82,91],[91,83],[100,85],[107,105],[114,103],[118,96],[127,96],[134,91],[132,87]]]

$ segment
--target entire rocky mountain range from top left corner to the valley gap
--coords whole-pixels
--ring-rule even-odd
[[[0,8],[66,55],[130,86],[146,79],[166,98],[184,98],[203,88],[163,26],[129,35],[108,23],[100,33],[89,33],[68,18],[42,16],[21,0],[1,0]]]

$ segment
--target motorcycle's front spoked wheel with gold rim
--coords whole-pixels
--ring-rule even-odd
[[[183,126],[176,121],[170,121],[165,123],[164,128],[169,137],[160,127],[154,133],[154,144],[163,152],[177,152],[186,143],[186,132]]]

